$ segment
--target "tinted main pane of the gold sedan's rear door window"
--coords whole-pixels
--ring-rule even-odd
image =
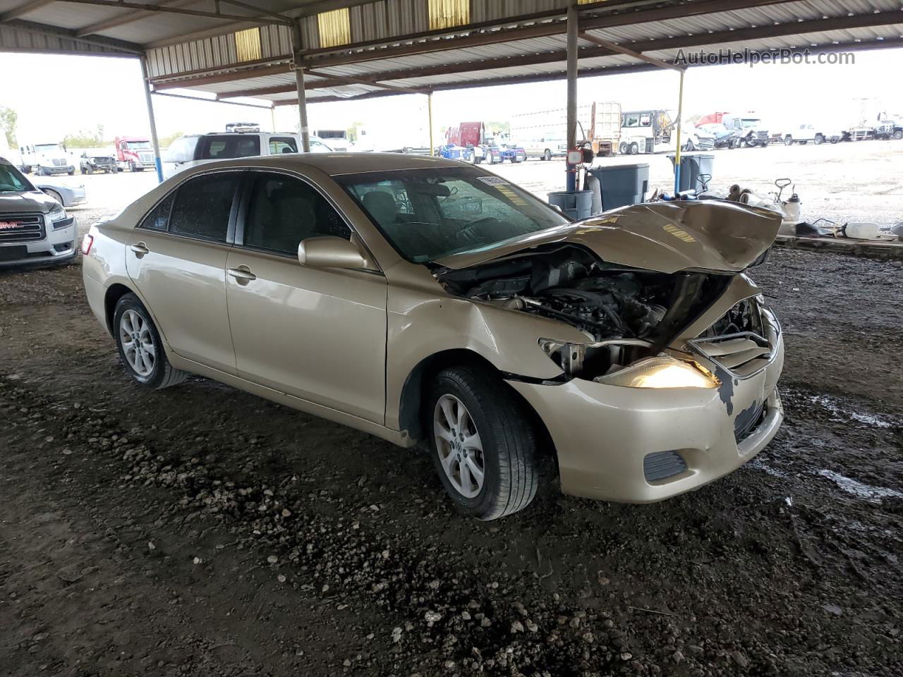
[[[172,205],[170,232],[225,242],[239,177],[238,172],[217,172],[182,183]]]

